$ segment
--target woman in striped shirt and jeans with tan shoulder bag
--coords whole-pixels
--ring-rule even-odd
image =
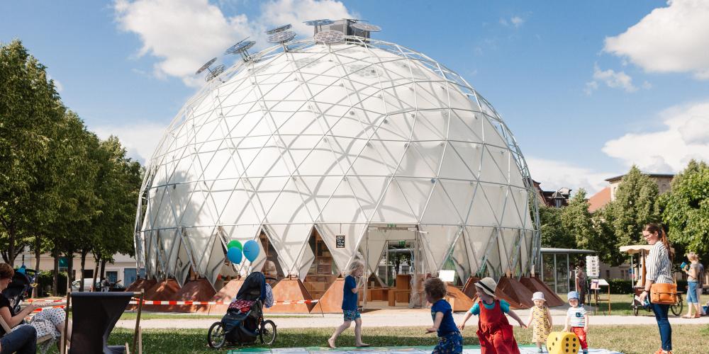
[[[657,224],[647,224],[642,229],[642,237],[647,244],[652,246],[647,257],[647,275],[645,275],[644,290],[640,294],[640,301],[644,302],[649,296],[650,288],[653,284],[671,284],[672,261],[669,251],[669,242],[664,230]],[[655,314],[657,326],[660,330],[661,348],[655,354],[672,353],[672,327],[667,319],[669,304],[650,304],[652,312]]]

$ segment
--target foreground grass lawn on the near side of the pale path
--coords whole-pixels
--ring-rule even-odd
[[[278,321],[275,321],[278,324]],[[354,328],[354,327],[353,327]],[[558,330],[558,328],[557,328]],[[709,326],[676,325],[673,330],[674,353],[708,353]],[[464,333],[466,345],[478,344],[475,326]],[[275,348],[325,346],[333,329],[282,329],[278,331]],[[144,353],[225,353],[206,345],[207,329],[149,329],[143,332]],[[435,346],[435,334],[424,334],[424,327],[379,327],[364,326],[363,339],[372,346]],[[114,329],[109,339],[112,344],[132,341],[133,332]],[[515,337],[520,345],[532,344],[532,331],[515,327]],[[657,326],[592,326],[588,333],[592,348],[617,350],[621,353],[654,353],[659,348]],[[337,340],[338,346],[353,346],[354,331],[348,329]],[[238,348],[238,347],[237,347]],[[52,348],[50,353],[57,353]]]

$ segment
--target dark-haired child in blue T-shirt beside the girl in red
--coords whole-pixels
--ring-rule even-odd
[[[463,353],[463,337],[453,321],[453,309],[443,299],[446,293],[445,282],[439,278],[428,278],[423,282],[423,291],[426,300],[432,304],[433,326],[426,329],[426,333],[438,334],[438,344],[432,354]]]

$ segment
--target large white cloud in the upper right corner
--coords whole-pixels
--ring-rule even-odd
[[[691,72],[709,79],[709,1],[670,0],[615,37],[605,52],[648,72]]]

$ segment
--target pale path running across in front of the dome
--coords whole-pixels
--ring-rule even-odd
[[[529,310],[517,310],[517,314],[526,321]],[[565,309],[552,309],[552,319],[555,326],[563,325],[566,315]],[[317,328],[317,327],[336,327],[342,324],[342,314],[310,314],[294,317],[290,314],[284,314],[288,317],[273,318],[277,326],[283,328]],[[465,314],[454,314],[456,324],[461,324]],[[267,315],[268,319],[269,316]],[[140,321],[140,326],[143,329],[208,329],[211,324],[218,321],[214,319],[145,319]],[[669,319],[671,324],[709,324],[709,316],[704,316],[700,319],[683,319],[681,317],[671,316]],[[392,326],[430,326],[431,315],[429,309],[396,309],[396,310],[376,310],[365,312],[362,314],[362,322],[367,327],[392,327]],[[514,322],[514,321],[513,321]],[[652,324],[655,325],[654,316],[603,316],[591,315],[589,318],[591,326],[593,325],[613,325],[613,324]],[[477,324],[476,316],[472,316],[468,320],[468,324]],[[514,323],[514,325],[518,325]],[[135,320],[121,320],[116,324],[118,327],[135,328]],[[593,330],[593,329],[591,329]]]

